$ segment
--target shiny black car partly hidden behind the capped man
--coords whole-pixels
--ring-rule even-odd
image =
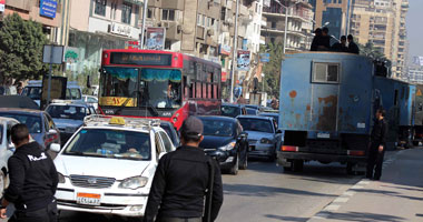
[[[229,170],[234,175],[238,173],[238,169],[247,169],[248,141],[239,121],[228,117],[198,118],[204,124],[204,140],[199,147],[208,155],[216,158],[220,169]]]

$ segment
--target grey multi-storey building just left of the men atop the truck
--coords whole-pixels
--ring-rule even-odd
[[[309,50],[313,41],[313,7],[305,0],[272,0],[264,6],[263,17],[266,24],[262,27],[262,36],[266,43],[284,42],[286,31],[286,50]],[[285,28],[285,19],[287,20]]]

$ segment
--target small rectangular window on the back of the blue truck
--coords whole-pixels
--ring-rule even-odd
[[[337,63],[313,63],[313,82],[340,82],[340,64]]]

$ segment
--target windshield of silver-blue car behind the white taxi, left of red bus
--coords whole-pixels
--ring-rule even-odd
[[[87,108],[77,105],[49,105],[46,111],[55,119],[83,120],[87,115]]]

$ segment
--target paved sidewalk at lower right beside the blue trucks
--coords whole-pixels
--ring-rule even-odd
[[[308,221],[423,221],[423,149],[390,153],[381,181],[360,181]]]

